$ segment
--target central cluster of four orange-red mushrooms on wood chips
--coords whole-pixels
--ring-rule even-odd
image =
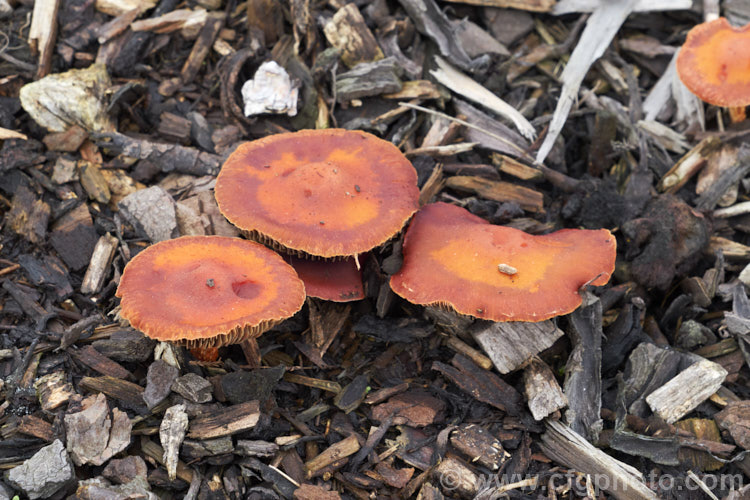
[[[245,143],[223,165],[215,196],[248,239],[185,236],[125,266],[120,316],[152,338],[191,348],[254,342],[300,310],[306,295],[361,299],[359,256],[409,219],[403,265],[390,285],[415,304],[541,321],[576,309],[579,289],[607,283],[614,270],[606,229],[532,236],[446,203],[420,209],[409,160],[361,131]]]

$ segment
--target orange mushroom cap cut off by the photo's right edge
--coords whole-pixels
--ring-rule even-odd
[[[677,56],[677,73],[709,104],[750,104],[750,24],[735,28],[720,17],[695,26]]]

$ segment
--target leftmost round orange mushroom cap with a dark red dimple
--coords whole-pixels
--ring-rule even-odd
[[[216,347],[257,337],[299,311],[305,287],[273,250],[239,238],[183,236],[126,266],[120,316],[151,338]]]

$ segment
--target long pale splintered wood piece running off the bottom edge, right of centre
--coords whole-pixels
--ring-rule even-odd
[[[595,448],[570,427],[547,421],[541,447],[545,455],[573,470],[607,479],[600,484],[618,500],[657,500],[637,469]]]

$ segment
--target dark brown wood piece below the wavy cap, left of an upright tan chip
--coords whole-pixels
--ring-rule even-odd
[[[463,354],[456,354],[451,364],[453,366],[435,361],[432,369],[442,373],[462,391],[478,401],[513,416],[520,416],[523,413],[523,398],[500,377],[481,369]]]

